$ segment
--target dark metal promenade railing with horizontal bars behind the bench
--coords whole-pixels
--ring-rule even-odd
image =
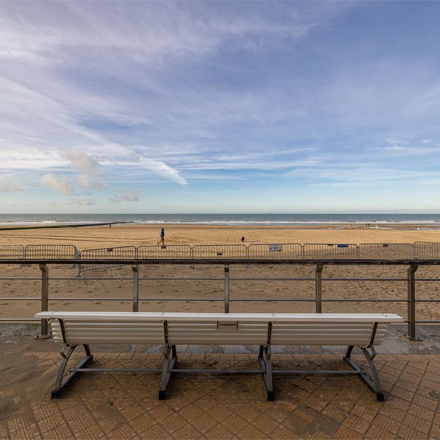
[[[110,248],[109,248],[110,249]],[[115,249],[115,248],[114,248]],[[78,282],[84,282],[89,280],[132,280],[132,297],[129,301],[132,303],[132,311],[139,311],[139,303],[143,301],[222,301],[224,303],[225,313],[229,313],[231,302],[240,301],[310,301],[315,303],[316,313],[322,313],[322,304],[325,302],[338,302],[338,303],[348,303],[348,302],[358,302],[358,303],[406,303],[407,307],[407,324],[408,331],[407,336],[410,339],[417,339],[416,337],[416,324],[418,323],[430,323],[439,324],[440,320],[418,320],[416,318],[416,304],[418,303],[438,303],[440,299],[436,298],[417,298],[416,297],[416,282],[435,282],[440,281],[440,278],[418,278],[416,279],[415,273],[419,266],[440,266],[440,259],[424,259],[424,260],[368,260],[368,259],[240,259],[240,258],[205,258],[205,259],[121,259],[121,258],[95,258],[95,259],[0,259],[0,266],[10,265],[10,264],[38,264],[41,277],[30,278],[30,277],[0,277],[0,280],[41,280],[41,295],[40,296],[24,296],[24,297],[2,297],[2,301],[40,301],[41,311],[48,311],[49,301],[127,301],[127,297],[57,297],[49,295],[49,281],[51,280],[77,280]],[[223,256],[221,256],[223,257]],[[36,261],[37,260],[37,261]],[[182,264],[198,264],[198,265],[222,265],[224,269],[223,277],[140,277],[139,276],[139,266],[140,265],[182,265]],[[255,277],[245,277],[245,278],[231,278],[230,277],[230,265],[238,264],[252,264],[252,265],[278,265],[278,264],[288,264],[288,265],[309,265],[315,267],[315,277],[314,278],[255,278]],[[114,265],[131,265],[132,277],[88,277],[88,278],[77,278],[77,277],[49,277],[48,264],[70,264],[70,265],[99,265],[100,267],[111,267]],[[393,266],[407,266],[407,276],[405,278],[322,278],[322,270],[325,265],[365,265],[365,266],[378,266],[378,265],[393,265]],[[187,297],[164,297],[157,295],[156,297],[140,297],[139,296],[139,280],[178,280],[178,281],[192,281],[192,280],[203,280],[203,281],[222,281],[224,284],[224,295],[223,297],[209,297],[209,298],[187,298]],[[243,298],[243,297],[233,297],[230,296],[230,283],[231,282],[250,282],[250,281],[307,281],[315,283],[315,297],[314,298],[277,298],[277,297],[267,297],[258,296],[253,298]],[[323,298],[322,297],[322,283],[323,282],[340,282],[340,281],[371,281],[371,282],[406,282],[407,285],[407,297],[402,299],[396,298]],[[390,310],[391,312],[391,310]],[[0,318],[0,321],[33,321],[33,318]],[[49,334],[48,325],[46,320],[41,321],[41,337],[47,337]]]

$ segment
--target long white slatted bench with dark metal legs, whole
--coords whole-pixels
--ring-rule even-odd
[[[274,400],[272,374],[359,374],[383,401],[373,363],[374,345],[382,343],[388,322],[403,322],[395,314],[348,313],[144,313],[144,312],[41,312],[49,319],[52,335],[62,342],[63,361],[52,398],[78,373],[96,371],[162,372],[159,399],[166,398],[173,373],[258,373],[266,386],[267,400]],[[164,344],[162,369],[111,369],[86,367],[93,360],[89,344]],[[178,369],[176,345],[257,345],[261,368]],[[63,379],[69,357],[83,345],[86,358]],[[271,345],[332,345],[348,347],[344,361],[352,370],[272,370]],[[372,377],[351,359],[353,347],[366,357]]]

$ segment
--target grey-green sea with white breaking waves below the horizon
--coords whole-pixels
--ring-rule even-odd
[[[124,222],[132,224],[188,225],[439,225],[440,213],[328,213],[328,214],[0,214],[1,226],[81,225]]]

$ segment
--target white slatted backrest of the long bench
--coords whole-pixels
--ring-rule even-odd
[[[51,328],[57,342],[76,344],[198,344],[198,345],[361,345],[383,342],[386,322],[402,322],[398,315],[351,314],[124,314],[88,313],[68,316],[50,313]],[[178,315],[178,316],[174,316]],[[211,315],[211,316],[207,316]],[[36,315],[42,317],[41,313]],[[307,319],[308,316],[310,319]],[[368,316],[368,318],[367,318]],[[45,316],[47,317],[47,316]],[[245,320],[231,320],[248,318]],[[252,318],[257,318],[254,320]],[[53,319],[57,318],[57,319]],[[179,319],[180,318],[180,319]],[[184,319],[183,319],[184,318]],[[194,319],[192,319],[194,318]],[[209,319],[210,318],[210,319]],[[63,329],[59,320],[63,322]],[[228,319],[228,320],[226,320]],[[64,331],[64,337],[63,337]]]

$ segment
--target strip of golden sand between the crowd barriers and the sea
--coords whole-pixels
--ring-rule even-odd
[[[23,229],[0,231],[0,244],[74,244],[79,250],[108,246],[156,244],[160,228],[167,244],[254,243],[414,243],[440,242],[440,230],[420,225],[333,227],[205,226],[205,225],[112,225],[86,228]]]

